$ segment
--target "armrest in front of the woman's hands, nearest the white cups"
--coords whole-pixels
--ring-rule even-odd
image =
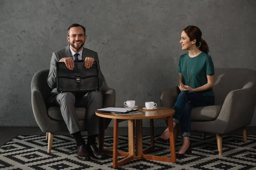
[[[179,94],[180,89],[178,86],[163,88],[160,92],[161,107],[172,108]]]

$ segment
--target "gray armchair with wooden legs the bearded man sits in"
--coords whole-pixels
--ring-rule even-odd
[[[47,132],[48,153],[52,149],[52,141],[54,133],[65,132],[67,125],[65,124],[59,107],[51,107],[48,104],[49,94],[52,91],[47,84],[49,69],[41,70],[35,73],[31,82],[31,100],[32,109],[35,120],[43,132]],[[103,96],[103,108],[115,107],[116,94],[115,90],[108,87],[105,78],[102,87],[99,89]],[[76,108],[76,113],[79,119],[80,131],[87,131],[86,123],[86,108]],[[106,126],[111,122],[111,119],[106,120]]]

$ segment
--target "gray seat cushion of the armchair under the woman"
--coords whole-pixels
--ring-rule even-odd
[[[221,107],[222,105],[214,105],[193,108],[191,111],[191,121],[215,120],[221,111]]]

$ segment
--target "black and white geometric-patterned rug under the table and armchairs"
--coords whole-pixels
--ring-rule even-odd
[[[156,136],[157,137],[157,136]],[[86,138],[85,138],[86,139]],[[253,170],[256,169],[256,136],[223,136],[223,156],[218,156],[215,136],[192,136],[192,155],[177,159],[176,163],[134,160],[117,168],[120,170]],[[176,151],[182,144],[178,139]],[[143,136],[143,147],[150,145],[150,136]],[[105,136],[105,148],[112,148],[113,136]],[[128,136],[119,136],[119,150],[128,151]],[[169,145],[155,143],[153,153],[169,156]],[[120,157],[122,159],[122,157]],[[2,170],[108,170],[112,156],[105,160],[80,161],[76,158],[76,144],[72,136],[54,136],[52,153],[47,153],[45,136],[17,136],[0,147]]]

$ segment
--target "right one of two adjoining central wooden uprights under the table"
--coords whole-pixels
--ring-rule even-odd
[[[136,120],[136,151],[137,156],[135,159],[141,159],[143,153],[143,142],[142,142],[142,119]]]

